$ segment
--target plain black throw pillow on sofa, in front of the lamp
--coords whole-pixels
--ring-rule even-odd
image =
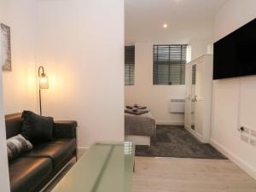
[[[54,119],[23,111],[21,135],[32,143],[49,142],[53,139]]]

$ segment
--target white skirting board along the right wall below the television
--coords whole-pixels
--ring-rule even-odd
[[[239,166],[244,172],[247,172],[248,175],[256,179],[256,169],[253,166],[248,165],[247,162],[241,160],[240,157],[238,157],[236,154],[233,154],[232,152],[230,152],[230,150],[224,148],[224,146],[214,141],[213,139],[210,140],[210,144],[214,148],[217,148],[226,157],[228,157],[233,163]]]

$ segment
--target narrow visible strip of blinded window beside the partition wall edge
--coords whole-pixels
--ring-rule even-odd
[[[125,85],[134,84],[135,46],[125,46]]]

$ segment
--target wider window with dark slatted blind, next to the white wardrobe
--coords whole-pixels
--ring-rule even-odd
[[[154,45],[153,84],[185,84],[186,44]]]

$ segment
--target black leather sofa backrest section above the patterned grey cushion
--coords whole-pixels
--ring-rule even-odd
[[[22,124],[21,113],[5,115],[6,137],[15,137],[20,134]]]

